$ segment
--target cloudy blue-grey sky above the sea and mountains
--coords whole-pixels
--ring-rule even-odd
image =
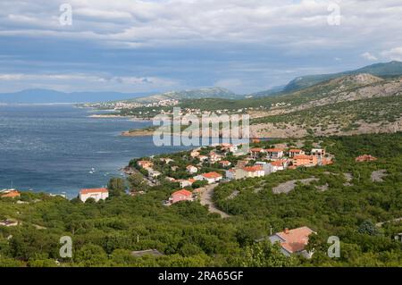
[[[247,94],[402,61],[401,28],[401,0],[2,0],[0,93]]]

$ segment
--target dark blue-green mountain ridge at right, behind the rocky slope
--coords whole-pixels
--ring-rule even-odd
[[[375,76],[387,77],[402,75],[402,63],[393,61],[390,63],[375,63],[369,66],[365,66],[356,71],[344,71],[332,74],[318,74],[318,75],[306,75],[297,77],[291,80],[289,84],[283,89],[285,92],[295,91],[301,88],[308,88],[320,82],[326,80],[332,80],[345,75],[353,75],[359,73],[369,73]]]

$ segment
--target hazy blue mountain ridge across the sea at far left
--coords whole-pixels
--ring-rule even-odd
[[[14,93],[0,93],[0,104],[94,103],[99,101],[124,100],[145,95],[147,93],[64,93],[49,89],[27,89]]]

